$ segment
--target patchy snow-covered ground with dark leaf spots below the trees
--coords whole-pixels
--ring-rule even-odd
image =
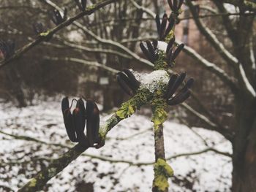
[[[103,115],[101,123],[108,117]],[[150,118],[143,115],[132,115],[121,121],[109,132],[104,147],[89,149],[80,155],[50,180],[44,191],[85,191],[85,188],[89,191],[92,186],[99,192],[151,191],[152,164],[134,165],[154,161],[151,128]],[[0,191],[8,191],[8,188],[16,191],[50,159],[58,158],[68,150],[53,144],[73,145],[67,138],[60,102],[57,101],[42,101],[23,109],[0,105],[0,131],[47,142],[15,139],[0,133]],[[232,153],[230,142],[214,131],[190,129],[170,121],[165,123],[164,131],[167,158],[208,147]],[[90,155],[96,155],[96,158]],[[118,161],[130,161],[130,164]],[[168,163],[175,174],[170,181],[170,191],[230,191],[232,164],[225,155],[208,151],[170,158]]]

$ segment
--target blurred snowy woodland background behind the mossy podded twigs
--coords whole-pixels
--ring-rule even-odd
[[[91,0],[88,6],[96,2]],[[255,54],[254,15],[241,16],[238,14],[241,9],[233,4],[223,3],[223,10],[214,1],[195,2],[197,14],[205,16],[200,20],[230,52],[235,47],[219,12],[231,13],[227,18],[234,25],[240,17],[250,20],[252,28],[246,46],[253,42],[250,53]],[[50,20],[50,11],[55,6],[67,8],[68,17],[80,12],[75,1],[0,0],[0,39],[12,40],[18,50],[37,38],[34,23],[42,23],[45,31],[55,27]],[[94,99],[101,108],[102,120],[129,99],[118,87],[116,72],[112,69],[152,71],[151,66],[140,61],[144,55],[138,45],[146,39],[157,39],[154,14],[163,15],[165,11],[170,14],[165,0],[118,1],[77,20],[84,28],[69,25],[0,70],[0,143],[6,146],[0,150],[0,191],[15,191],[47,166],[50,159],[58,158],[67,150],[50,144],[72,146],[61,119],[63,96]],[[201,34],[186,4],[179,15],[176,39],[237,82],[236,72]],[[170,191],[230,191],[233,150],[227,135],[235,130],[236,96],[217,74],[198,63],[200,61],[185,51],[178,56],[173,68],[174,72],[187,72],[188,77],[194,77],[195,84],[187,107],[169,109],[165,124],[166,153],[170,157],[180,153],[198,152],[198,155],[170,158],[170,165],[175,166],[173,169],[177,172],[170,182]],[[143,107],[137,114],[121,123],[116,128],[118,131],[110,133],[108,146],[97,152],[89,150],[89,155],[81,156],[50,180],[45,191],[150,191],[152,166],[132,165],[154,160],[150,107]],[[49,145],[27,141],[19,138],[20,135]],[[217,152],[203,153],[208,148],[215,148]],[[105,156],[109,161],[92,158],[90,154]],[[111,159],[129,159],[132,163],[114,164]],[[132,179],[133,175],[137,179]]]

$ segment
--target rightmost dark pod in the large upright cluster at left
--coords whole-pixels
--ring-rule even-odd
[[[99,141],[99,109],[91,99],[86,101],[86,118],[86,136],[89,145],[93,146]]]

